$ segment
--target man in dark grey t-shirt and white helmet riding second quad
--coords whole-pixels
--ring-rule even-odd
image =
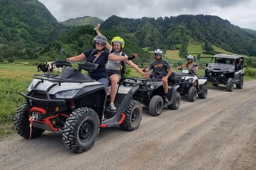
[[[153,78],[161,79],[163,82],[163,87],[165,89],[165,102],[169,102],[167,98],[168,93],[168,77],[170,77],[171,72],[173,71],[170,64],[162,59],[163,52],[160,49],[155,50],[154,52],[155,61],[152,61],[149,66],[145,69],[145,72],[150,71],[153,69]],[[168,74],[167,74],[168,70]]]

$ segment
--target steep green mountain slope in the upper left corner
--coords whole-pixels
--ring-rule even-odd
[[[38,0],[0,0],[0,56],[4,58],[32,58],[66,31]]]

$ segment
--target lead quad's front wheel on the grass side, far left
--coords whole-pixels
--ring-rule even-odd
[[[16,132],[26,138],[29,139],[30,136],[30,127],[29,127],[29,114],[28,114],[28,104],[23,103],[20,107],[18,107],[15,115],[14,115],[14,127]],[[31,139],[37,138],[38,136],[44,133],[44,129],[40,129],[32,126]]]

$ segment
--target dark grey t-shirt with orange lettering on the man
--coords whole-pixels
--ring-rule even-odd
[[[163,64],[166,64],[166,66],[163,66]],[[159,62],[157,62],[156,60],[152,61],[149,64],[148,68],[150,70],[153,69],[153,72],[157,71],[157,72],[163,73],[163,74],[155,73],[154,75],[155,78],[161,79],[162,77],[167,75],[167,70],[170,69],[171,66],[166,60],[161,59],[161,61]]]

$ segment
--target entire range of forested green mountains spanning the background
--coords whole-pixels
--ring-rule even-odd
[[[89,25],[75,26],[85,24]],[[103,20],[95,17],[69,19],[65,26],[57,22],[38,0],[0,1],[0,62],[2,58],[46,61],[60,57],[60,49],[74,56],[93,48],[96,35],[93,25]],[[111,16],[101,24],[101,33],[108,41],[115,36],[125,40],[124,52],[139,53],[135,62],[150,62],[153,55],[142,50],[161,48],[178,50],[187,56],[189,47],[202,46],[202,53],[219,53],[213,47],[240,55],[256,56],[256,33],[242,29],[227,20],[210,15],[179,15],[169,17],[129,19]],[[215,46],[213,46],[215,45]],[[150,58],[151,55],[151,58]]]

